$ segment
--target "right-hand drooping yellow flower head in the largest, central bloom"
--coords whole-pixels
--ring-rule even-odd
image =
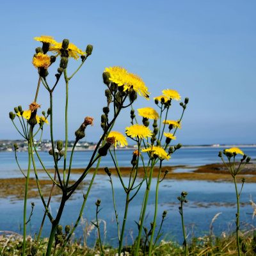
[[[129,90],[130,88],[139,93],[140,96],[149,100],[150,93],[148,92],[148,88],[141,77],[136,74],[129,73],[127,75],[127,82],[124,84],[124,90]]]

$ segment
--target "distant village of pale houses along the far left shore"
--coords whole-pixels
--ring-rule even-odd
[[[72,150],[72,147],[74,146],[75,141],[68,141],[68,151]],[[27,151],[28,150],[28,141],[26,140],[0,140],[0,152],[12,152],[13,151],[13,145],[17,144],[19,146],[18,151]],[[38,145],[37,145],[38,144]],[[64,141],[63,141],[64,144]],[[37,145],[37,150],[39,151],[45,151],[48,152],[51,148],[51,141],[50,140],[42,140],[40,143],[35,140],[35,145]],[[93,142],[87,142],[87,141],[79,141],[76,144],[75,150],[81,151],[81,150],[93,150],[96,147],[96,144]],[[134,148],[133,146],[129,147],[118,147],[118,148]]]

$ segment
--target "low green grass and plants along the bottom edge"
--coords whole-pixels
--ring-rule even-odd
[[[35,244],[32,237],[28,237],[28,243],[26,248],[26,255],[31,256],[44,256],[44,252],[47,248],[47,239],[42,239],[40,243]],[[22,237],[18,235],[6,235],[0,236],[0,255],[20,255],[22,248]],[[133,246],[127,246],[124,248],[124,256],[133,255]],[[241,239],[241,250],[243,255],[252,256],[256,255],[256,232],[253,233],[252,230],[244,232],[243,238]],[[58,246],[56,252],[58,251]],[[117,254],[116,248],[111,248],[111,246],[104,246],[105,256],[115,256]],[[53,249],[52,249],[53,252]],[[144,252],[144,253],[143,253]],[[78,255],[88,255],[88,256],[100,256],[99,244],[95,244],[95,248],[88,248],[83,246],[83,244],[75,241],[65,248],[65,252],[62,255],[78,256]],[[140,255],[147,255],[147,246],[144,246],[143,241],[141,241],[141,252]],[[155,248],[155,256],[179,256],[184,255],[184,250],[182,246],[172,241],[161,241]],[[236,250],[236,236],[230,234],[228,236],[204,236],[195,237],[189,243],[189,255],[237,255]]]

